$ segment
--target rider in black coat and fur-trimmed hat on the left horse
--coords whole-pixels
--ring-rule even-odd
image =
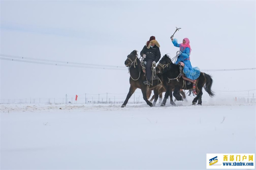
[[[148,81],[143,82],[145,85],[149,85],[149,81],[151,80],[152,64],[156,64],[161,57],[159,47],[160,45],[156,41],[156,38],[154,36],[151,36],[149,41],[146,42],[146,45],[140,52],[140,55],[143,56],[143,61],[146,63],[146,77]]]

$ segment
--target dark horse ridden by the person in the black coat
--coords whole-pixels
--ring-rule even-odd
[[[136,50],[133,50],[131,52],[131,54],[129,54],[127,56],[127,59],[124,62],[126,67],[129,67],[129,71],[130,71],[130,89],[129,92],[127,94],[126,99],[124,100],[124,103],[122,105],[122,107],[125,107],[128,100],[130,99],[130,97],[132,96],[133,92],[139,88],[141,89],[142,95],[143,95],[143,99],[147,102],[147,104],[152,107],[155,106],[156,101],[158,99],[158,91],[159,89],[162,87],[162,80],[153,80],[152,85],[144,85],[143,81],[146,80],[146,76],[142,71],[142,67],[141,67],[141,63],[140,63],[140,59],[138,58],[138,54]],[[153,102],[153,104],[148,101],[149,96],[147,96],[147,93],[151,93],[151,90],[154,90],[154,95],[155,95],[155,100]]]

